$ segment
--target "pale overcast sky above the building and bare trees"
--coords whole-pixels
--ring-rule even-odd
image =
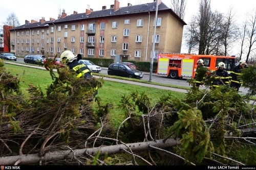
[[[120,7],[127,6],[127,3],[132,5],[152,3],[153,0],[119,0]],[[171,0],[162,0],[167,6],[171,7]],[[189,23],[191,17],[198,13],[200,0],[187,0],[184,21]],[[9,14],[12,12],[18,17],[20,25],[25,24],[25,20],[31,21],[41,19],[45,17],[46,20],[51,18],[58,18],[60,11],[65,9],[67,15],[73,14],[73,11],[78,13],[84,13],[90,5],[94,11],[102,9],[102,6],[106,6],[107,9],[110,5],[114,4],[114,0],[12,0],[1,1],[0,4],[0,25],[6,21]],[[227,13],[232,8],[232,11],[236,14],[236,18],[239,22],[245,19],[245,14],[256,9],[256,0],[211,0],[211,9],[217,10],[222,13]],[[188,26],[184,26],[184,30]],[[186,53],[186,52],[182,52]]]

